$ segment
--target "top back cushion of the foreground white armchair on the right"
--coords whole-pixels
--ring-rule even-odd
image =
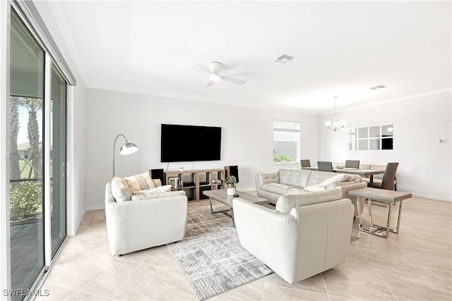
[[[295,207],[307,206],[323,202],[342,199],[342,194],[338,189],[324,190],[321,192],[307,192],[299,195],[281,195],[276,202],[275,211],[289,214]]]

